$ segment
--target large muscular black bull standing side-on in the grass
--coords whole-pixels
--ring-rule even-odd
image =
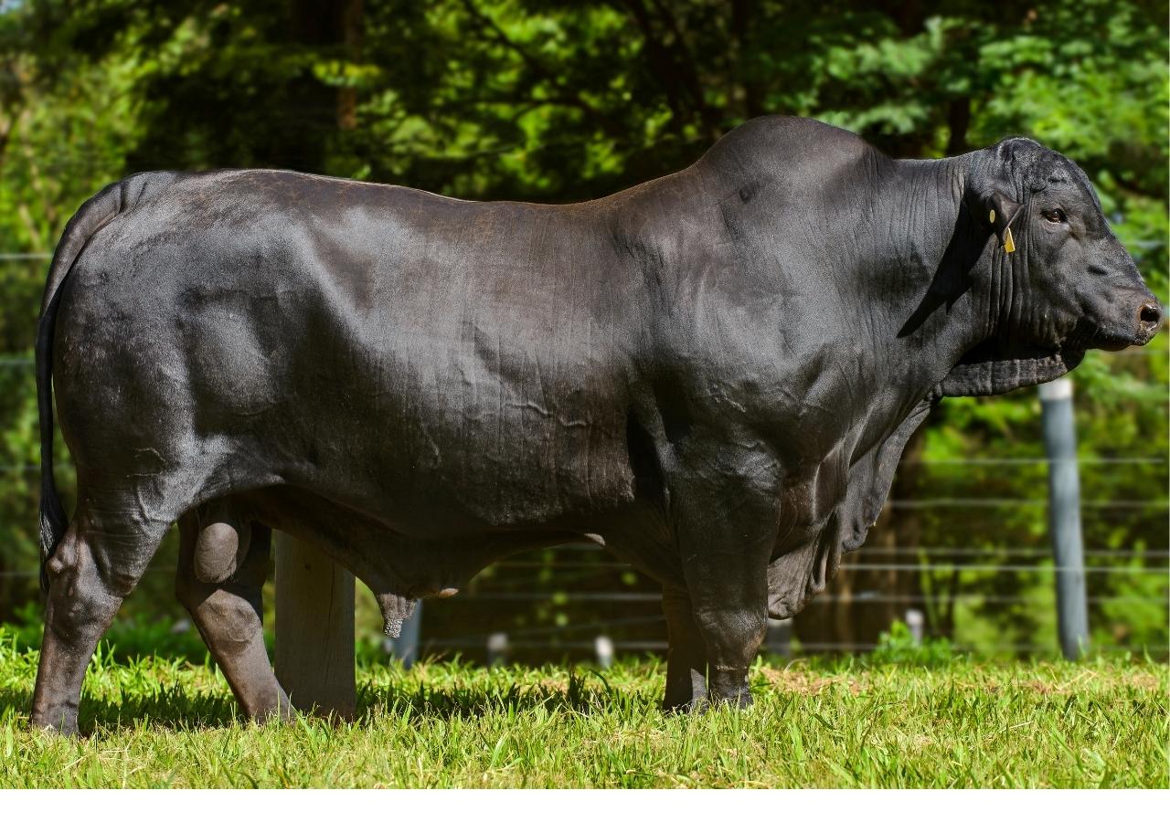
[[[350,568],[391,633],[502,557],[592,540],[662,583],[666,704],[745,704],[769,613],[861,545],[932,403],[1159,320],[1085,174],[1019,138],[895,161],[762,118],[565,206],[128,178],[66,229],[37,332],[32,720],[76,728],[95,643],[177,520],[179,599],[252,717],[288,710],[269,529]]]

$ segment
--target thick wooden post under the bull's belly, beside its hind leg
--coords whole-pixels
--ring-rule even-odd
[[[312,545],[276,540],[276,679],[292,706],[352,719],[353,575]]]

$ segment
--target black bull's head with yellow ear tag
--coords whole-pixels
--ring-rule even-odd
[[[1145,345],[1157,332],[1162,306],[1072,160],[1004,140],[975,156],[965,199],[999,246],[991,293],[1000,340],[1076,355]]]

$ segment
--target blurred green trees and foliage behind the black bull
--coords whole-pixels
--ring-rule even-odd
[[[111,180],[270,166],[563,202],[676,171],[764,113],[894,157],[1026,134],[1085,168],[1165,302],[1166,43],[1165,2],[1126,0],[0,0],[0,620],[35,624],[41,608],[30,362],[48,263],[20,255],[51,253]],[[1166,338],[1074,374],[1094,642],[1158,656]],[[1054,654],[1042,456],[1034,389],[945,401],[798,638],[863,648],[916,608],[958,647]],[[71,479],[63,462],[67,493]],[[137,615],[150,642],[183,649],[198,638],[171,634],[173,566],[168,544],[118,624]],[[424,636],[474,650],[529,631],[543,643],[529,656],[557,657],[579,652],[574,627],[618,620],[611,636],[653,643],[654,590],[604,554],[541,552],[428,603]],[[601,592],[647,596],[579,599]],[[372,610],[363,599],[367,643]]]

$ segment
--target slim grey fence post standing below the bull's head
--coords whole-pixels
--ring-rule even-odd
[[[1057,571],[1057,620],[1060,649],[1076,659],[1089,647],[1081,540],[1081,488],[1073,427],[1073,382],[1067,377],[1040,386],[1044,448],[1048,455],[1048,526]]]

